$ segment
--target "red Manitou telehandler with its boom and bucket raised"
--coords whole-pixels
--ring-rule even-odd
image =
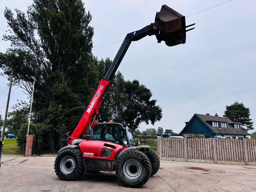
[[[194,24],[192,24],[194,25]],[[106,76],[101,79],[92,100],[74,132],[68,135],[68,145],[57,154],[54,169],[61,180],[75,180],[84,171],[116,171],[118,180],[126,187],[138,188],[154,175],[160,166],[159,157],[149,146],[135,142],[131,129],[125,122],[97,123],[101,100],[105,96],[111,79],[121,63],[132,41],[155,35],[157,42],[168,46],[186,42],[185,16],[163,5],[156,12],[155,22],[132,33],[128,33],[118,50]]]

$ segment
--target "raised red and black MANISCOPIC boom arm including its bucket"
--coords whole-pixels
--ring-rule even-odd
[[[194,25],[194,24],[192,24]],[[86,108],[83,117],[78,123],[76,129],[70,137],[69,143],[74,139],[81,138],[86,129],[89,127],[89,134],[92,136],[91,125],[95,120],[96,115],[99,114],[100,103],[106,94],[109,86],[111,86],[111,79],[116,73],[126,51],[128,50],[132,41],[138,41],[145,36],[155,35],[157,42],[165,41],[168,46],[175,46],[184,44],[186,42],[186,27],[192,25],[185,25],[185,16],[174,11],[170,7],[163,5],[160,12],[156,12],[155,22],[150,25],[132,33],[128,33],[125,37],[121,47],[119,48],[116,57],[114,58],[107,74],[100,81],[100,85],[94,93],[92,100]],[[193,29],[193,28],[192,28]]]

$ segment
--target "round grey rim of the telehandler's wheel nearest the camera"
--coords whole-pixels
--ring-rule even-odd
[[[140,177],[142,168],[140,163],[135,159],[130,159],[124,163],[123,172],[128,179],[137,179]]]

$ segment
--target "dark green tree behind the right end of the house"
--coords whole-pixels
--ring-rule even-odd
[[[248,130],[253,130],[253,122],[250,115],[250,109],[244,107],[243,102],[238,103],[236,101],[226,106],[223,116],[228,117],[233,122],[240,123],[241,129],[247,132]]]

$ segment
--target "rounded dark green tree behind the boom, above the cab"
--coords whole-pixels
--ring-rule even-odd
[[[109,58],[98,62],[99,80],[105,76],[111,63]],[[114,122],[125,121],[135,131],[142,122],[154,125],[162,118],[162,109],[156,105],[156,100],[151,100],[151,91],[138,80],[125,81],[118,71],[112,83],[102,100],[97,119],[99,122],[108,122],[110,119]]]

